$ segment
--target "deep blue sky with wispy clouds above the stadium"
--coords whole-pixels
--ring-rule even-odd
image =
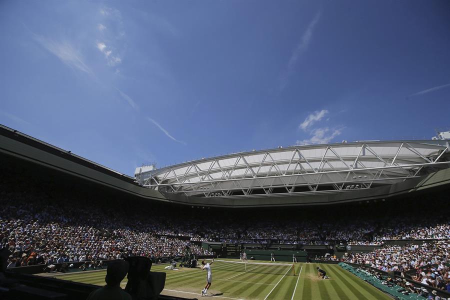
[[[449,1],[0,2],[0,123],[131,174],[450,128]]]

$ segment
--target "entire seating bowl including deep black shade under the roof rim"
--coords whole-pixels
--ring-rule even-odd
[[[244,251],[303,250],[305,261],[366,267],[412,293],[425,294],[410,282],[450,289],[446,185],[387,199],[236,209],[141,199],[11,156],[2,162],[0,239],[9,269],[82,263],[84,270],[131,256],[170,261],[186,247],[195,257],[217,257],[226,243]]]

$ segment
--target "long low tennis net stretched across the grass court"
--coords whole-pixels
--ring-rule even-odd
[[[206,260],[210,262],[210,259]],[[295,275],[295,265],[293,263],[245,262],[214,259],[211,268],[214,270],[235,272]]]

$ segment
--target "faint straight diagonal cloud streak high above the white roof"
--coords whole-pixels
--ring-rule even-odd
[[[290,55],[289,62],[287,63],[287,68],[280,78],[280,89],[284,89],[289,81],[289,76],[292,74],[295,64],[297,63],[300,56],[308,49],[311,42],[312,34],[314,33],[314,27],[320,19],[321,12],[317,12],[314,18],[309,22],[306,30],[304,30],[301,35],[300,40],[292,51]]]

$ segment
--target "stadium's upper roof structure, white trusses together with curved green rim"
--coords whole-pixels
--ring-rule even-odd
[[[445,138],[291,146],[138,167],[131,177],[0,125],[0,158],[10,165],[20,161],[65,181],[194,207],[321,205],[447,189],[449,149]]]

